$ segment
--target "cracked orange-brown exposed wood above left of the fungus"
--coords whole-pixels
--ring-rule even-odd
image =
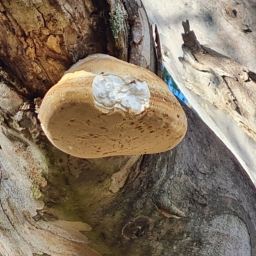
[[[108,5],[96,4],[0,1],[0,66],[22,95],[44,96],[72,63],[106,52]]]

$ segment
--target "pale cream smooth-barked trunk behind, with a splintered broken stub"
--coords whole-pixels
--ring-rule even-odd
[[[154,0],[143,3],[150,22],[159,27],[164,66],[189,104],[239,159],[255,185],[255,83],[246,78],[256,72],[254,1],[159,0],[157,6]],[[187,19],[202,47],[212,50],[211,54],[198,56],[200,60],[193,60],[193,51],[188,47],[180,47],[181,24]],[[234,83],[236,86],[232,86]]]

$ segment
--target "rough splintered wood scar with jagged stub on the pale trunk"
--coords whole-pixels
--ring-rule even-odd
[[[256,141],[256,74],[237,61],[224,56],[196,40],[189,21],[183,23],[185,84],[202,99],[236,120]]]

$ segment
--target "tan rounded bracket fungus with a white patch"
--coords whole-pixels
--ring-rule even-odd
[[[54,146],[82,158],[164,152],[187,129],[186,115],[163,80],[105,54],[67,70],[45,95],[39,119]]]

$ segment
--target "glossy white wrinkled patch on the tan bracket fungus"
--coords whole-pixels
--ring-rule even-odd
[[[149,107],[150,90],[145,81],[99,74],[94,77],[92,87],[95,104],[104,109],[120,108],[139,115]]]

